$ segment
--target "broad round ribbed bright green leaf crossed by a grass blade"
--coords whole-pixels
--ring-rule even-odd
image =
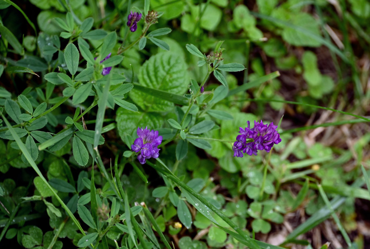
[[[187,71],[183,70],[186,67],[180,55],[172,53],[153,55],[140,67],[139,83],[143,87],[166,91],[169,94],[182,95],[185,93],[190,80]],[[157,75],[157,77],[154,75]],[[150,89],[142,89],[139,92],[137,88],[139,87],[134,85],[134,89],[129,92],[129,96],[143,110],[162,112],[170,111],[174,107],[173,103],[165,100],[161,95],[154,97]]]

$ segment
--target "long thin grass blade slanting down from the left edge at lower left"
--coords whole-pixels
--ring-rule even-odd
[[[34,169],[34,171],[36,171],[37,175],[40,176],[40,178],[43,180],[43,182],[48,186],[48,188],[53,193],[53,195],[55,196],[55,198],[58,200],[58,202],[60,203],[60,205],[68,213],[68,216],[70,216],[70,218],[72,219],[72,221],[76,224],[77,228],[81,231],[81,233],[83,235],[85,235],[84,229],[82,229],[82,227],[81,227],[80,223],[77,221],[76,217],[73,215],[73,213],[67,207],[67,205],[65,205],[65,203],[62,201],[62,199],[60,199],[60,197],[57,195],[57,193],[55,193],[54,189],[50,186],[50,184],[48,183],[48,181],[46,181],[46,179],[43,176],[43,174],[41,173],[40,169],[38,169],[37,165],[32,160],[32,157],[31,157],[30,153],[28,152],[28,150],[26,149],[26,147],[24,146],[23,142],[17,136],[16,132],[14,132],[14,129],[13,129],[13,127],[11,127],[9,121],[4,117],[3,114],[1,114],[1,117],[3,118],[3,120],[4,120],[5,124],[7,125],[7,127],[9,128],[9,131],[10,131],[11,135],[13,135],[14,140],[17,142],[18,147],[22,151],[24,157],[26,157],[28,163],[32,166],[32,168]]]

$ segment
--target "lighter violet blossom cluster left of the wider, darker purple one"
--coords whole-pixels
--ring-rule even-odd
[[[159,150],[157,147],[162,143],[162,136],[158,136],[158,131],[149,130],[148,127],[142,129],[138,127],[138,138],[131,145],[131,150],[140,152],[138,160],[141,164],[145,164],[149,158],[158,158]]]

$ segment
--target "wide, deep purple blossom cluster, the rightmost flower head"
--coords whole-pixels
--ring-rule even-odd
[[[255,125],[250,129],[250,122],[247,121],[248,127],[244,129],[239,127],[239,133],[233,145],[234,157],[243,157],[243,153],[248,155],[257,155],[257,150],[270,152],[274,144],[281,142],[280,135],[277,133],[277,125],[263,124],[255,121]]]

